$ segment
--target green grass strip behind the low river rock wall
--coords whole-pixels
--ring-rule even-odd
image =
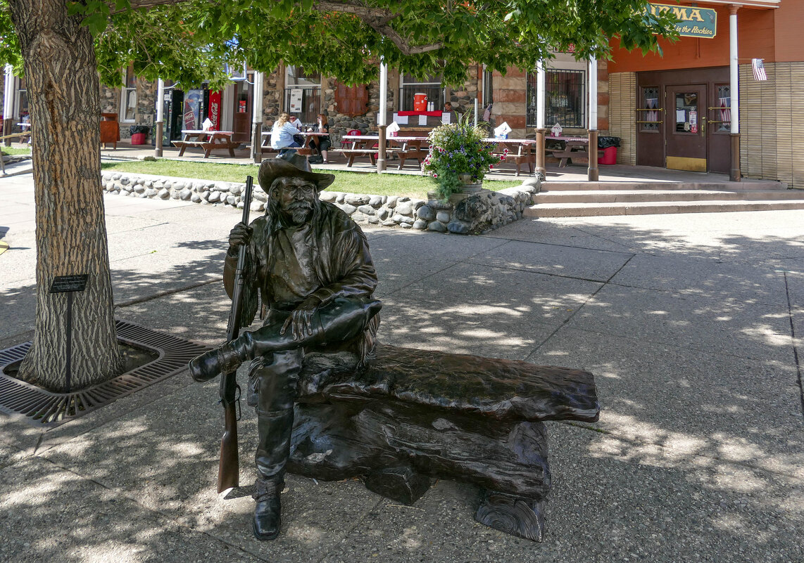
[[[100,167],[105,172],[117,171],[221,180],[224,182],[245,182],[246,176],[249,174],[256,180],[258,166],[255,164],[216,164],[214,162],[162,159],[157,161],[103,162]],[[433,180],[424,176],[342,172],[340,170],[318,171],[334,174],[335,182],[330,186],[330,191],[350,192],[352,194],[406,195],[411,198],[426,199],[428,190],[435,188]],[[485,180],[483,187],[497,191],[520,186],[521,184],[521,181]]]

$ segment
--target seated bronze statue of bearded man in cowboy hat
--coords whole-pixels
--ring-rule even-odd
[[[356,369],[374,346],[380,303],[366,236],[318,192],[332,174],[313,173],[306,160],[263,162],[257,179],[268,194],[265,215],[229,235],[224,284],[232,296],[241,246],[246,247],[243,326],[258,309],[263,324],[191,361],[196,381],[207,381],[252,361],[249,403],[255,404],[254,535],[273,540],[281,524],[280,492],[293,429],[293,400],[305,353],[355,353]],[[262,306],[259,302],[261,300]],[[256,397],[254,397],[256,395]]]

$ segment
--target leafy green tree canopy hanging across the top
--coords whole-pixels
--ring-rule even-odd
[[[21,70],[0,0],[0,59]],[[658,50],[674,37],[672,14],[646,14],[644,0],[100,0],[67,2],[94,36],[100,79],[121,83],[133,63],[146,79],[197,86],[227,80],[224,63],[273,71],[280,62],[347,83],[377,78],[375,62],[417,76],[466,78],[467,64],[529,69],[552,49],[609,55],[609,39]],[[367,61],[370,62],[367,64]]]

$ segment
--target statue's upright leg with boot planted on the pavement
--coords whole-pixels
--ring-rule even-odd
[[[260,369],[257,391],[257,479],[254,491],[253,531],[259,540],[273,540],[281,528],[282,488],[290,455],[293,399],[304,352],[301,349],[273,354]]]

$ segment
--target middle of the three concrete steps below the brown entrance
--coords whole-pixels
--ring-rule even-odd
[[[591,190],[541,192],[534,203],[704,202],[804,199],[798,190]]]

